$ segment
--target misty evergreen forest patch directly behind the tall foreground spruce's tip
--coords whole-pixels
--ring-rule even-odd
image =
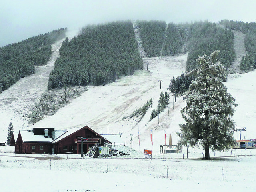
[[[196,59],[204,54],[210,55],[214,50],[220,50],[218,60],[226,68],[234,61],[234,34],[231,30],[223,29],[208,21],[194,22],[188,26],[189,51],[186,69],[188,71],[198,67]]]

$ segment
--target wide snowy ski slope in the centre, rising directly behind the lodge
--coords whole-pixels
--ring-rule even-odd
[[[185,106],[185,102],[182,97],[177,98],[175,103],[170,94],[170,110],[167,107],[159,115],[160,124],[158,124],[158,118],[149,122],[151,107],[140,122],[138,122],[140,116],[124,117],[130,116],[133,111],[142,107],[151,98],[152,108],[156,109],[161,91],[168,92],[170,79],[173,76],[180,76],[182,71],[185,71],[186,58],[187,55],[143,58],[144,62],[148,63],[148,70],[138,70],[132,76],[122,77],[105,86],[88,86],[88,90],[80,97],[60,108],[56,114],[44,118],[33,126],[53,127],[61,130],[82,128],[87,125],[99,134],[107,133],[109,127],[109,133],[123,133],[124,141],[129,141],[130,134],[134,136],[138,134],[139,123],[141,141],[150,142],[147,140],[150,130],[154,130],[155,136],[161,135],[165,129],[174,135],[178,128],[176,120],[181,119],[180,121],[183,122],[180,110]],[[161,89],[159,79],[163,80]],[[146,142],[146,145],[150,144]],[[138,143],[134,143],[134,147],[136,144]]]

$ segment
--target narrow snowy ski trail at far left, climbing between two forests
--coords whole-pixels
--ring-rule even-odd
[[[76,32],[67,32],[69,38],[74,37]],[[44,66],[36,66],[35,73],[21,78],[14,85],[0,94],[0,140],[6,139],[6,128],[10,122],[14,130],[25,128],[28,125],[26,115],[35,104],[36,99],[46,91],[50,72],[54,69],[54,63],[59,56],[62,40],[52,44],[52,55]]]

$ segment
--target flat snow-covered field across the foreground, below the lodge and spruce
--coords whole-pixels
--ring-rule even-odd
[[[239,154],[248,156],[236,156]],[[152,162],[150,159],[143,161],[141,153],[131,153],[119,159],[83,159],[71,154],[1,155],[1,192],[238,192],[256,189],[256,150],[232,150],[232,156],[230,151],[216,153],[222,158],[210,161],[187,159],[186,154],[184,159],[183,154],[153,155]],[[54,159],[56,156],[60,159]],[[199,154],[190,152],[188,156]]]

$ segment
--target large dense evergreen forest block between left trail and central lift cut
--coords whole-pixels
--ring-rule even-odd
[[[89,83],[98,86],[142,68],[130,21],[90,25],[82,28],[77,37],[66,38],[62,43],[48,89]]]

